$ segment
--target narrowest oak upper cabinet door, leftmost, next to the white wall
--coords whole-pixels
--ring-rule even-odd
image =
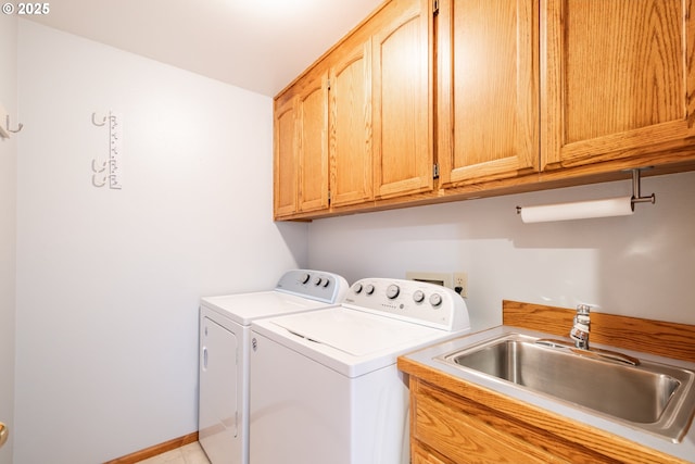
[[[276,100],[274,133],[273,199],[275,218],[280,218],[298,211],[296,98]]]

